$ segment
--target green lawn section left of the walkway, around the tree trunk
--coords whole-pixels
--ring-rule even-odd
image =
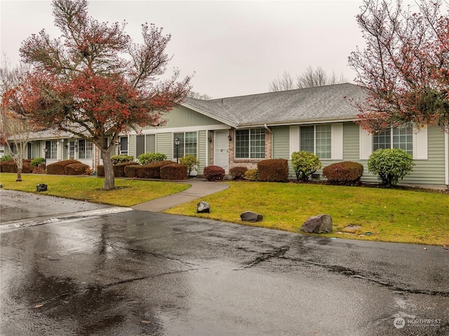
[[[16,176],[17,174],[1,173],[0,183],[5,189],[29,193],[36,193],[36,185],[45,183],[48,191],[39,194],[121,207],[130,207],[189,188],[186,183],[116,179],[115,186],[118,188],[106,191],[101,189],[104,179],[100,177],[22,174],[22,182],[15,182]]]

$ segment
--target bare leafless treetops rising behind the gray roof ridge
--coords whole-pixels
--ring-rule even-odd
[[[278,77],[269,84],[269,91],[276,92],[304,89],[305,87],[317,87],[346,82],[347,80],[342,74],[340,74],[340,76],[337,76],[337,74],[335,74],[335,71],[333,71],[331,74],[328,74],[321,66],[316,69],[309,66],[301,75],[296,76],[296,80],[290,73],[284,71],[281,78]]]

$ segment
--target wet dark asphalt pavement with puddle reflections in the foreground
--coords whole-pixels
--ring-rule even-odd
[[[0,196],[0,335],[449,335],[441,246]]]

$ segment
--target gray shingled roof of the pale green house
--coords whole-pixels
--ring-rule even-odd
[[[358,110],[345,97],[366,96],[362,87],[344,83],[222,99],[186,98],[182,105],[233,127],[291,125],[356,119]]]

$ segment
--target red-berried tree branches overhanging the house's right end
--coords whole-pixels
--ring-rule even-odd
[[[366,48],[351,52],[349,65],[367,99],[352,103],[370,132],[405,123],[449,131],[448,13],[440,0],[415,6],[365,0],[357,16]]]

